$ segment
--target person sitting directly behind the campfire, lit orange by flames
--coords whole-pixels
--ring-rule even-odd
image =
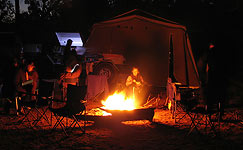
[[[133,96],[133,98],[141,100],[143,85],[143,77],[141,76],[138,68],[133,67],[131,75],[129,75],[126,79],[127,96]]]

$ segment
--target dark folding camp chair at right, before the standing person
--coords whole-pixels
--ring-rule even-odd
[[[197,106],[190,112],[191,125],[187,135],[190,135],[193,130],[200,134],[213,133],[213,135],[218,135],[216,123],[220,127],[220,103],[215,104],[211,109],[208,109],[207,105]]]

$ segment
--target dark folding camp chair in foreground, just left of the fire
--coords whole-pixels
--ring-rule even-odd
[[[83,133],[85,132],[84,118],[86,114],[86,107],[84,98],[86,96],[86,92],[87,86],[68,85],[66,105],[56,109],[51,107],[49,108],[56,118],[53,130],[60,126],[65,135],[68,136],[67,131],[72,130],[77,125]],[[69,125],[66,123],[65,125],[64,118],[71,119],[72,123]],[[84,120],[83,126],[79,123],[81,120]]]

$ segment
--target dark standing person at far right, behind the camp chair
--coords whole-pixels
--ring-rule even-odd
[[[210,43],[209,53],[207,59],[207,90],[206,90],[206,104],[208,110],[211,111],[213,107],[217,106],[219,108],[220,103],[220,114],[224,113],[224,104],[226,100],[226,72],[223,65],[222,54],[219,51],[219,45]],[[221,47],[222,48],[222,47]],[[220,49],[221,49],[220,48]],[[220,52],[220,53],[219,53]]]

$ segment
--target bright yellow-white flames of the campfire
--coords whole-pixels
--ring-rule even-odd
[[[124,91],[115,92],[113,95],[110,95],[105,101],[101,101],[104,105],[103,109],[109,110],[134,110],[136,109],[135,98],[126,97]]]

